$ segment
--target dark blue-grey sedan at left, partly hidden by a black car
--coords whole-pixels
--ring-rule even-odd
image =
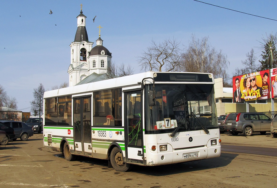
[[[20,121],[1,121],[7,126],[10,126],[14,129],[16,137],[13,139],[15,141],[17,138],[20,138],[22,141],[26,141],[30,136],[34,135],[34,131],[31,126],[26,125]]]

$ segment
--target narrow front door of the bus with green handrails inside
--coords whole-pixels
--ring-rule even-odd
[[[141,91],[125,93],[125,149],[130,161],[143,162]],[[127,147],[126,147],[127,146]]]

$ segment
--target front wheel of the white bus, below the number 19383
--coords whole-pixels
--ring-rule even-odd
[[[127,164],[123,161],[123,155],[119,148],[114,147],[110,156],[112,167],[116,171],[126,172],[130,169],[130,164]]]

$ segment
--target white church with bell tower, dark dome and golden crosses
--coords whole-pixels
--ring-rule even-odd
[[[86,31],[86,16],[81,12],[77,16],[77,31],[74,42],[70,44],[71,62],[68,68],[69,86],[104,80],[107,67],[110,66],[112,53],[103,46],[103,40],[96,40],[96,46],[89,42]]]

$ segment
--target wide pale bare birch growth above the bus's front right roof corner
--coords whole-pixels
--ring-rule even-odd
[[[189,47],[182,55],[182,63],[179,64],[178,70],[184,72],[207,72],[212,73],[215,78],[223,78],[223,84],[228,77],[227,69],[229,61],[227,55],[221,50],[216,51],[209,44],[208,37],[201,40],[191,36]]]

